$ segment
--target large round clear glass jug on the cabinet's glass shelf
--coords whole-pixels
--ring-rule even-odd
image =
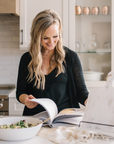
[[[87,52],[96,52],[98,48],[99,48],[99,42],[97,40],[97,34],[92,33],[92,35],[87,37],[86,50]]]

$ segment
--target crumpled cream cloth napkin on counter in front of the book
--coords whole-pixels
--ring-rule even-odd
[[[92,139],[101,138],[108,140],[103,135],[98,135],[95,132],[84,131],[78,127],[64,127],[58,128],[42,128],[37,134],[56,144],[82,144],[92,142]]]

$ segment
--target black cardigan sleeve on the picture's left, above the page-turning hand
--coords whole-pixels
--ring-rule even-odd
[[[18,101],[19,101],[19,96],[21,94],[28,94],[27,76],[28,76],[29,62],[30,62],[30,54],[29,52],[26,52],[22,55],[20,59],[20,64],[18,69],[17,88],[16,88],[16,98]]]

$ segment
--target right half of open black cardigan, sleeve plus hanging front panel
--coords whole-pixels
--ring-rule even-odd
[[[80,59],[76,52],[64,47],[66,52],[65,60],[67,62],[68,89],[70,104],[72,107],[79,108],[79,103],[84,105],[88,97],[88,90],[85,85],[83,71]]]

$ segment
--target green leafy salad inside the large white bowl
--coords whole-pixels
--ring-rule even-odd
[[[0,125],[0,129],[20,129],[20,128],[29,128],[29,127],[33,127],[36,125],[28,123],[25,120],[20,120],[20,122],[16,122],[15,124]]]

